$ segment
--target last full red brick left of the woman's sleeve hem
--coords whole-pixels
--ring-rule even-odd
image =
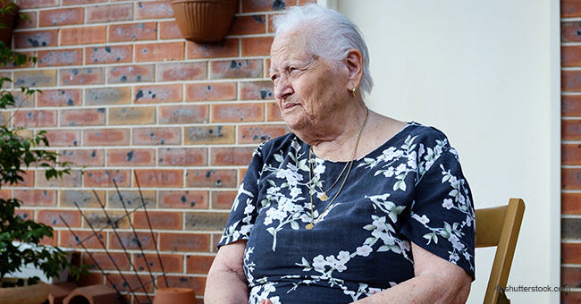
[[[162,251],[206,252],[210,249],[210,235],[197,233],[159,233]]]

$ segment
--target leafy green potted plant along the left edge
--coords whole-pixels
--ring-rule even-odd
[[[29,61],[36,63],[36,58],[15,53],[0,42],[0,63],[3,66],[6,63],[21,66]],[[0,88],[3,87],[4,81],[12,80],[7,77],[0,78]],[[21,88],[21,91],[28,97],[38,90]],[[13,94],[1,89],[0,111],[13,106],[17,106]],[[8,124],[9,122],[0,125],[0,189],[4,185],[22,182],[24,169],[30,165],[46,169],[44,170],[46,179],[60,178],[63,173],[69,173],[68,164],[57,161],[57,153],[46,151],[45,148],[49,147],[49,144],[45,131],[24,138],[20,135],[22,128],[11,128]],[[41,148],[41,145],[45,148]],[[48,296],[46,284],[39,283],[38,277],[8,280],[5,278],[6,274],[18,272],[22,266],[29,264],[40,269],[48,278],[58,277],[59,272],[66,267],[69,267],[70,273],[76,277],[81,271],[83,273],[86,271],[85,268],[72,266],[67,259],[68,254],[63,250],[41,245],[43,238],[53,237],[53,228],[21,218],[17,213],[19,207],[21,200],[18,198],[0,198],[0,303],[24,303],[8,298],[13,295],[32,300],[29,302],[31,304],[39,304]],[[39,295],[33,296],[34,291],[23,290],[27,285],[36,285],[36,289],[40,290]]]

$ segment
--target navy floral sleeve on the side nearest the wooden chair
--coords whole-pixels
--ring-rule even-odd
[[[445,139],[420,145],[410,217],[401,232],[417,246],[464,268],[475,279],[472,194],[456,150]]]

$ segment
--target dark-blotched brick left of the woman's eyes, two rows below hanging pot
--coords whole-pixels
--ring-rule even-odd
[[[224,60],[210,63],[211,79],[246,79],[263,77],[262,60]]]

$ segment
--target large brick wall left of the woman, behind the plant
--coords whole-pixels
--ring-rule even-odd
[[[96,195],[112,220],[124,214],[113,180],[130,209],[139,206],[136,174],[157,244],[143,211],[133,213],[131,223],[154,261],[152,270],[161,274],[152,258],[157,245],[170,285],[193,288],[201,302],[252,149],[287,132],[266,74],[269,21],[285,6],[314,2],[241,0],[225,40],[195,44],[181,38],[169,1],[21,0],[29,21],[19,21],[13,48],[38,56],[38,63],[4,68],[0,75],[14,80],[4,89],[29,86],[43,93],[19,97],[20,109],[0,120],[26,127],[25,135],[46,130],[51,148],[75,165],[62,181],[48,182],[30,168],[25,182],[0,195],[20,198],[22,216],[54,226],[53,244],[80,248],[59,215],[80,238],[90,236],[87,221],[97,229],[108,222]],[[140,274],[147,274],[144,259],[128,219],[117,225],[121,242],[111,229],[98,235],[135,285],[122,245]],[[109,278],[129,291],[97,237],[85,245]],[[92,264],[86,255],[83,262]],[[105,283],[97,269],[91,274],[82,283]]]

